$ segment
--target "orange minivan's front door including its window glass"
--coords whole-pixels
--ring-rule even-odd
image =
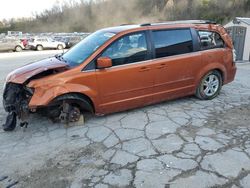
[[[149,60],[146,33],[129,34],[110,45],[102,57],[112,59],[113,66],[96,71],[104,113],[143,106],[154,92],[153,64]]]

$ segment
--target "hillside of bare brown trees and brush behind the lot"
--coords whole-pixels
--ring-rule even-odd
[[[4,20],[0,32],[92,32],[125,23],[180,19],[223,24],[236,16],[250,16],[250,0],[71,0],[33,18]]]

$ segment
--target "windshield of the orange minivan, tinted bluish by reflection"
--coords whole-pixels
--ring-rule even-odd
[[[101,45],[114,35],[115,33],[97,31],[83,39],[67,53],[62,55],[62,59],[66,61],[69,66],[77,66],[84,62],[91,54],[93,54]]]

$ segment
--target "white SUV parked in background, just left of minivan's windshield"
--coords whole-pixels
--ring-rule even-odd
[[[65,48],[65,43],[55,41],[51,38],[33,38],[28,41],[28,48],[41,51],[43,49],[58,49]]]

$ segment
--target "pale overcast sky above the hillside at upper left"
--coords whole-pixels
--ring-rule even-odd
[[[0,0],[0,20],[31,17],[32,13],[49,9],[63,1],[67,0]]]

